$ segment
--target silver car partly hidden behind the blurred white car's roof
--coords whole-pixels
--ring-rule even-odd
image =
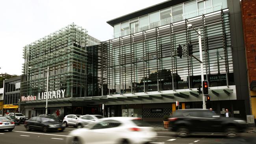
[[[103,118],[103,116],[98,114],[83,115],[76,120],[76,126],[78,128],[88,127],[89,124],[96,122],[100,118]]]

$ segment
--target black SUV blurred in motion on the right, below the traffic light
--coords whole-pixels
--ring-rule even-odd
[[[189,133],[224,133],[227,137],[236,137],[246,129],[244,120],[222,117],[208,109],[176,110],[169,121],[170,130],[180,137]]]

